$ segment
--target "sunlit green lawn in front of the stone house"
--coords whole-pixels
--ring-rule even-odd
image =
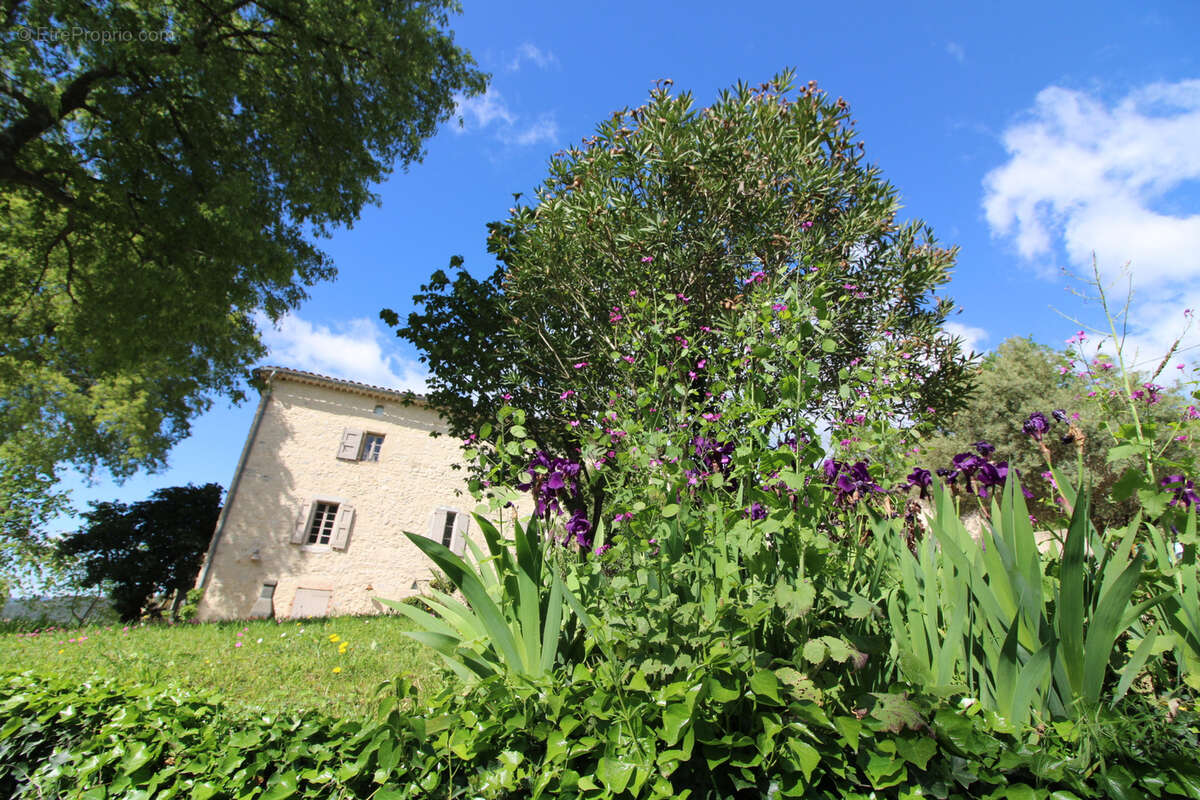
[[[431,650],[403,636],[407,628],[396,616],[347,616],[5,633],[0,672],[169,684],[215,690],[264,712],[365,717],[379,685],[396,675],[407,673],[422,697],[452,680]]]

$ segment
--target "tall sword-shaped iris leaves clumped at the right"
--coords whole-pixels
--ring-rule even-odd
[[[1134,558],[1140,521],[1116,547],[1088,522],[1087,495],[1075,503],[1056,576],[1043,573],[1033,527],[1010,479],[991,527],[976,542],[949,494],[935,488],[934,539],[900,553],[901,591],[889,603],[895,646],[913,682],[966,688],[1021,728],[1031,718],[1078,718],[1116,704],[1140,674],[1156,627],[1114,664],[1114,645],[1162,597],[1134,600],[1142,563]],[[934,542],[938,552],[934,551]],[[1054,546],[1054,545],[1051,545]],[[940,555],[938,555],[940,554]],[[1114,674],[1120,681],[1111,688]],[[1109,691],[1105,691],[1109,690]]]

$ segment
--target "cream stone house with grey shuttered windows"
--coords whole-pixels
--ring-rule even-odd
[[[198,619],[367,614],[433,564],[413,531],[464,549],[474,500],[458,443],[420,398],[263,367],[264,390],[200,570]],[[412,396],[409,396],[412,397]],[[274,584],[274,585],[272,585]]]

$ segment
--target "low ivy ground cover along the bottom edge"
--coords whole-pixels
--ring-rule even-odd
[[[1174,752],[1094,774],[1066,739],[1014,739],[978,705],[864,694],[854,714],[797,697],[770,672],[714,658],[665,685],[576,668],[552,686],[499,675],[421,705],[395,681],[372,721],[232,711],[211,694],[10,675],[0,681],[6,796],[868,798],[1195,796]],[[1069,732],[1068,732],[1068,735]],[[115,744],[114,744],[115,742]],[[91,793],[91,794],[89,794]]]

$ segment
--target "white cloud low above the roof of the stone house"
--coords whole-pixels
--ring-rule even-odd
[[[278,325],[258,320],[271,363],[388,389],[425,391],[424,367],[390,351],[389,336],[374,320],[360,318],[332,326],[295,314]]]

